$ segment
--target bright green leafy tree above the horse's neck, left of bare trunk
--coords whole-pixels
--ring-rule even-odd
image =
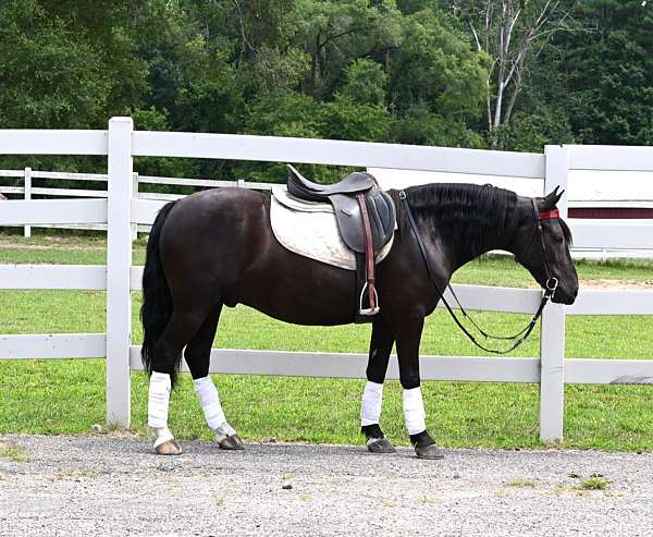
[[[490,65],[433,2],[412,2],[397,46],[386,58],[393,139],[405,144],[479,147],[472,129],[483,113]]]

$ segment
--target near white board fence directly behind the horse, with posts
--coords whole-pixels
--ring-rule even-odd
[[[113,118],[108,131],[0,131],[4,155],[107,155],[108,197],[9,200],[0,225],[107,224],[107,266],[0,265],[0,289],[107,290],[107,331],[93,334],[0,335],[0,358],[107,358],[107,420],[130,425],[130,371],[141,369],[132,345],[131,291],[141,267],[132,267],[133,224],[151,224],[163,202],[134,196],[133,157],[189,157],[312,162],[535,178],[543,191],[565,187],[572,169],[653,171],[653,148],[547,146],[543,155],[360,142],[225,134],[133,131]],[[34,192],[34,190],[33,190]],[[567,200],[559,203],[566,216]],[[580,247],[653,248],[645,221],[570,221]],[[457,285],[470,309],[532,314],[534,290]],[[539,357],[422,356],[424,380],[540,383],[540,437],[563,436],[565,383],[653,383],[653,361],[565,359],[566,315],[653,315],[651,291],[584,291],[569,307],[550,304],[542,317]],[[364,378],[367,355],[213,350],[211,371]],[[389,378],[397,378],[393,359]]]

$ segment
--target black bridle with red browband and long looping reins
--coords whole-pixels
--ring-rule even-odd
[[[408,217],[408,222],[410,223],[410,228],[412,229],[412,234],[415,235],[415,239],[416,239],[417,244],[419,246],[419,249],[421,252],[422,259],[424,260],[424,264],[427,265],[427,270],[429,271],[429,277],[431,279],[431,283],[433,284],[433,286],[438,291],[438,294],[440,294],[440,297],[442,298],[442,302],[444,303],[446,309],[448,310],[449,315],[452,316],[452,318],[454,319],[454,321],[456,322],[456,325],[458,326],[458,328],[460,328],[460,330],[463,330],[463,333],[465,333],[465,335],[467,335],[467,338],[469,338],[469,340],[476,346],[478,346],[479,349],[481,349],[481,350],[483,350],[485,352],[493,353],[493,354],[507,354],[510,351],[514,351],[515,349],[517,349],[519,345],[521,345],[521,343],[523,343],[526,341],[526,339],[530,335],[530,333],[533,331],[533,328],[535,328],[538,319],[542,316],[542,312],[544,310],[544,306],[549,303],[549,301],[554,295],[554,293],[555,293],[557,286],[558,286],[558,279],[551,274],[551,269],[549,267],[549,260],[546,259],[546,245],[544,244],[544,232],[542,230],[542,220],[551,220],[551,219],[559,218],[559,211],[557,209],[553,209],[553,210],[540,212],[538,210],[538,205],[537,205],[535,200],[531,199],[532,207],[533,207],[534,220],[537,222],[537,225],[533,227],[533,229],[531,231],[531,234],[529,235],[529,239],[528,239],[528,241],[526,242],[526,244],[523,246],[522,253],[525,253],[529,248],[531,242],[533,241],[533,236],[537,233],[539,235],[539,237],[540,237],[540,245],[542,247],[542,257],[544,259],[544,271],[546,273],[546,282],[544,284],[544,293],[542,294],[542,301],[540,302],[540,306],[538,307],[538,310],[535,312],[535,315],[533,315],[533,317],[528,322],[528,325],[523,329],[521,329],[519,332],[517,332],[516,334],[513,334],[513,335],[492,335],[492,334],[485,332],[467,314],[467,312],[465,310],[465,308],[460,304],[460,301],[458,301],[458,297],[456,296],[456,293],[454,292],[454,289],[452,288],[451,283],[447,283],[447,288],[448,288],[449,292],[452,293],[452,296],[456,301],[456,303],[457,303],[457,305],[458,305],[458,307],[460,309],[460,313],[463,314],[463,316],[465,318],[469,319],[469,321],[471,322],[471,325],[479,331],[479,333],[481,335],[483,335],[483,338],[485,338],[486,340],[488,339],[492,339],[492,340],[502,340],[502,341],[513,341],[514,342],[510,345],[509,349],[506,349],[506,350],[496,350],[496,349],[489,349],[489,347],[484,346],[483,344],[479,343],[477,341],[477,339],[475,338],[475,335],[469,332],[469,330],[463,325],[463,322],[460,322],[460,320],[458,319],[458,317],[454,313],[453,308],[449,306],[448,302],[446,302],[446,298],[444,297],[444,292],[440,289],[440,286],[436,283],[438,279],[435,277],[435,272],[433,270],[433,267],[431,266],[431,263],[429,261],[429,256],[427,254],[427,247],[426,247],[426,245],[423,243],[423,240],[422,240],[421,235],[419,234],[419,231],[417,229],[417,224],[415,223],[415,218],[412,217],[412,212],[410,211],[410,206],[408,205],[408,198],[406,196],[406,192],[405,191],[399,191],[399,200],[402,202],[402,204],[404,206],[404,209],[406,211],[406,216]],[[517,256],[515,256],[515,259],[517,259]]]

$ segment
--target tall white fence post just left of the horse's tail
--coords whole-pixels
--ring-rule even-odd
[[[107,183],[107,423],[130,427],[132,118],[109,121]]]

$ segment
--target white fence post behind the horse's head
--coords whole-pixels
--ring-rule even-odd
[[[544,157],[545,194],[558,185],[566,191],[569,171],[567,147],[546,146]],[[557,207],[560,216],[566,218],[566,192]],[[565,411],[565,306],[562,304],[549,303],[542,314],[540,368],[540,440],[554,442],[563,439]]]

